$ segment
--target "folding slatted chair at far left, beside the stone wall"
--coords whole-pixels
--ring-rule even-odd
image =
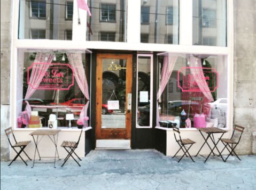
[[[28,157],[28,159],[29,159],[29,160],[32,160],[32,159],[29,158],[29,156],[27,155],[27,153],[24,151],[24,149],[26,148],[26,146],[27,146],[31,141],[21,141],[21,142],[17,142],[17,141],[16,141],[16,138],[15,138],[15,136],[14,136],[13,130],[12,130],[11,127],[5,129],[4,131],[5,131],[5,134],[6,134],[7,138],[8,138],[8,141],[9,141],[11,147],[12,147],[13,150],[17,153],[17,155],[14,157],[14,159],[11,161],[11,163],[10,163],[8,166],[11,166],[12,162],[14,162],[18,157],[20,157],[21,160],[26,164],[26,166],[28,166],[27,162],[24,161],[24,159],[21,157],[20,154],[21,154],[22,152],[24,152],[24,154],[26,154],[26,156]],[[14,145],[12,145],[12,143],[11,143],[11,140],[10,140],[10,137],[9,137],[10,134],[12,134],[13,139],[14,139],[14,141],[15,141],[15,144],[14,144]],[[20,151],[19,151],[19,152],[15,149],[15,148],[17,148],[17,147],[20,148]]]

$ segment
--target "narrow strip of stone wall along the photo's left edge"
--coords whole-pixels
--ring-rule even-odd
[[[1,160],[9,157],[4,129],[9,126],[12,1],[1,0]]]

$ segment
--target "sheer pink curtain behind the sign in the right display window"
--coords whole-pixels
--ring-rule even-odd
[[[211,90],[204,79],[203,69],[201,69],[202,68],[201,60],[197,59],[196,57],[189,57],[189,61],[190,61],[190,67],[191,67],[190,68],[191,74],[196,76],[194,78],[199,89],[207,98],[208,102],[213,102],[214,100],[213,100]],[[193,68],[197,68],[197,69],[193,69]],[[200,80],[200,79],[204,79],[204,80]]]

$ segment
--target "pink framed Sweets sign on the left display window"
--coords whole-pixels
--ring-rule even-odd
[[[49,65],[46,70],[43,69],[43,65]],[[39,73],[38,78],[42,78],[40,85],[37,85],[37,81],[29,81],[29,70],[36,69]],[[41,75],[43,76],[40,76]],[[28,68],[28,85],[32,86],[33,89],[41,90],[69,90],[74,85],[74,70],[69,64],[63,63],[33,63]]]

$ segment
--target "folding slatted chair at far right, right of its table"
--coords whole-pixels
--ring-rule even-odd
[[[239,137],[238,137],[238,141],[237,141],[237,142],[235,141],[235,131],[238,131],[238,133],[240,134],[240,135],[238,135]],[[224,160],[224,162],[227,161],[227,159],[229,158],[230,155],[233,155],[232,153],[234,153],[235,156],[236,156],[239,160],[241,160],[241,159],[238,157],[238,155],[235,153],[234,150],[235,150],[236,146],[238,145],[238,143],[240,142],[243,133],[244,133],[244,127],[235,125],[234,130],[233,130],[233,133],[232,133],[232,136],[231,136],[230,139],[229,139],[229,138],[221,138],[221,139],[220,139],[221,142],[224,144],[224,148],[223,148],[223,150],[221,151],[221,153],[222,153],[226,148],[227,148],[227,150],[229,151],[229,155],[228,155],[227,158]],[[221,153],[220,153],[220,154],[221,154]]]

